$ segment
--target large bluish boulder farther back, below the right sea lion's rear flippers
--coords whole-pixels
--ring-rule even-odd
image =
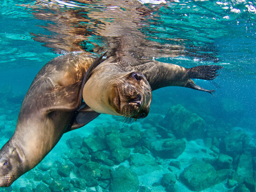
[[[203,138],[206,122],[185,107],[176,105],[169,109],[161,126],[170,129],[178,139],[194,140]]]

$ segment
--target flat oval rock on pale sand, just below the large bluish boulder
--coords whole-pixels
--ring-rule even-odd
[[[159,156],[161,158],[178,158],[185,150],[186,144],[183,140],[162,139],[152,142],[151,151],[154,156]]]

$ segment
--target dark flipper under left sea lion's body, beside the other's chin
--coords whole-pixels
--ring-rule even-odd
[[[94,120],[99,115],[99,113],[93,111],[89,106],[83,103],[77,111],[73,124],[70,125],[69,128],[67,128],[66,132],[85,126],[87,123]]]

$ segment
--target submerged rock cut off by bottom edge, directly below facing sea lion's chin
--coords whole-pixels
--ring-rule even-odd
[[[135,172],[120,165],[111,173],[110,192],[136,192],[139,190],[139,179]]]

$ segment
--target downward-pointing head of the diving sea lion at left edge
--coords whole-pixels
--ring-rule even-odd
[[[0,150],[0,187],[10,186],[26,172],[18,150],[10,142],[7,142]]]

